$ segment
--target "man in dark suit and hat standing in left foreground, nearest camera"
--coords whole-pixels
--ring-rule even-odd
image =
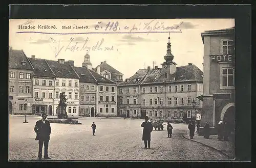
[[[38,120],[35,124],[34,131],[36,133],[35,140],[38,140],[39,144],[39,150],[38,150],[38,160],[41,160],[42,158],[42,145],[45,145],[45,159],[51,159],[48,156],[48,144],[50,140],[50,134],[51,134],[51,126],[50,122],[46,120],[47,114],[43,113],[42,114],[42,119]]]

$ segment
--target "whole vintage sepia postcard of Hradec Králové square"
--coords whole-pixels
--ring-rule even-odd
[[[234,19],[10,19],[9,161],[232,160]]]

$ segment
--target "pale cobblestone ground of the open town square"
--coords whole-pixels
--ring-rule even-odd
[[[11,116],[9,120],[9,159],[34,160],[38,141],[34,125],[40,117]],[[96,136],[92,136],[95,121]],[[173,124],[173,137],[163,131],[152,132],[151,149],[144,149],[143,120],[131,119],[79,119],[81,125],[51,123],[49,156],[52,160],[221,160],[222,153],[183,137],[186,124]],[[166,123],[165,123],[166,124]],[[43,149],[44,150],[44,149]]]

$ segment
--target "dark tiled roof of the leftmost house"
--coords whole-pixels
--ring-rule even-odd
[[[22,62],[26,65],[22,65]],[[33,70],[23,50],[10,49],[9,50],[9,68]]]

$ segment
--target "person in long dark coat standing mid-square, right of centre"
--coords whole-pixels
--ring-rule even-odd
[[[145,117],[145,121],[141,124],[143,127],[142,141],[144,141],[145,148],[150,149],[151,132],[153,131],[153,125],[148,121],[148,117]]]

